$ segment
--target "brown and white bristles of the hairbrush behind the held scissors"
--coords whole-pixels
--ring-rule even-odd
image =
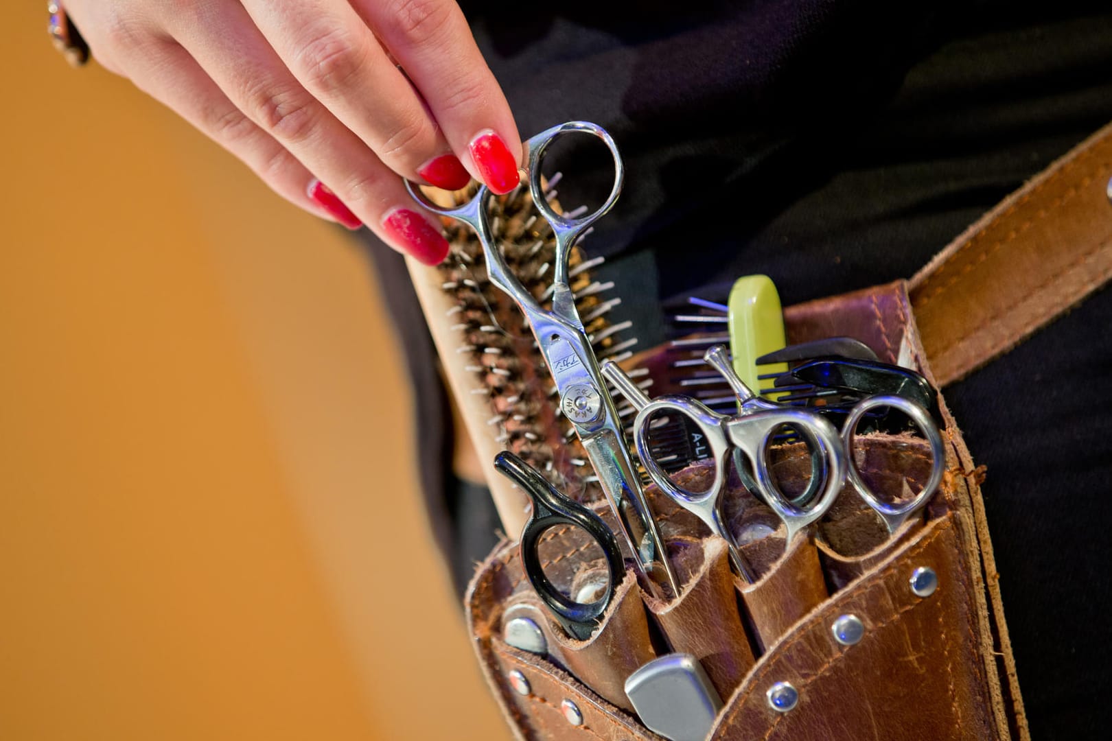
[[[546,199],[557,210],[555,184],[559,179],[560,174],[555,174],[545,191]],[[474,191],[465,193],[471,194]],[[526,188],[518,187],[507,196],[493,198],[489,208],[492,231],[507,266],[537,301],[546,303],[552,297],[555,261],[552,228],[538,218]],[[565,216],[574,218],[584,211],[586,208],[582,207]],[[440,267],[441,288],[455,299],[448,318],[459,332],[457,352],[467,357],[467,368],[476,380],[470,393],[488,399],[490,417],[484,421],[492,437],[543,471],[545,478],[569,497],[580,501],[597,498],[600,493],[597,477],[570,422],[559,413],[556,389],[522,312],[490,283],[475,234],[456,222],[447,223],[446,231],[453,249],[449,260]],[[628,358],[637,343],[631,336],[632,322],[609,322],[609,314],[620,300],[607,296],[613,282],[592,276],[594,269],[604,264],[604,258],[585,259],[576,246],[568,263],[575,304],[596,354],[614,360]]]

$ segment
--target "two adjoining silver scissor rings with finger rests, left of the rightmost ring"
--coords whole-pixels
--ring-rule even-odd
[[[756,397],[734,372],[722,346],[707,350],[704,359],[734,389],[739,401],[736,414],[718,414],[688,397],[664,395],[649,400],[616,363],[609,361],[603,363],[603,373],[637,409],[633,423],[634,444],[649,478],[661,491],[703,520],[713,533],[726,541],[734,570],[745,581],[753,583],[756,577],[722,519],[728,451],[735,451],[738,472],[746,472],[746,487],[761,497],[784,522],[787,542],[791,543],[797,532],[826,513],[842,489],[846,475],[842,440],[834,425],[815,412],[782,407]],[[677,485],[653,458],[649,451],[649,431],[654,418],[661,413],[678,413],[687,418],[704,435],[715,461],[714,480],[705,491],[688,491]],[[768,470],[767,448],[772,438],[784,425],[791,427],[807,444],[812,459],[812,480],[807,489],[821,489],[816,495],[790,499]]]

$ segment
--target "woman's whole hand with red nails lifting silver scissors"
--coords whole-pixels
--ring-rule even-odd
[[[398,176],[449,190],[474,177],[496,193],[518,182],[517,127],[454,0],[68,0],[66,10],[103,67],[278,193],[350,229],[365,222],[423,262],[443,260],[448,243]]]

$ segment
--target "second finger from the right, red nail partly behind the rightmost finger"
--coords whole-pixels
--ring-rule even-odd
[[[449,190],[470,176],[409,80],[347,2],[246,0],[294,77],[398,174]]]

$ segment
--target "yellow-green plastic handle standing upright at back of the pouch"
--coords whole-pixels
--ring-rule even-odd
[[[784,312],[780,306],[776,284],[767,276],[745,276],[738,278],[729,289],[729,352],[734,372],[755,394],[761,393],[757,379],[756,359],[782,350],[787,341],[784,337]],[[787,363],[762,367],[764,373],[784,373]],[[780,394],[768,394],[768,399]]]

